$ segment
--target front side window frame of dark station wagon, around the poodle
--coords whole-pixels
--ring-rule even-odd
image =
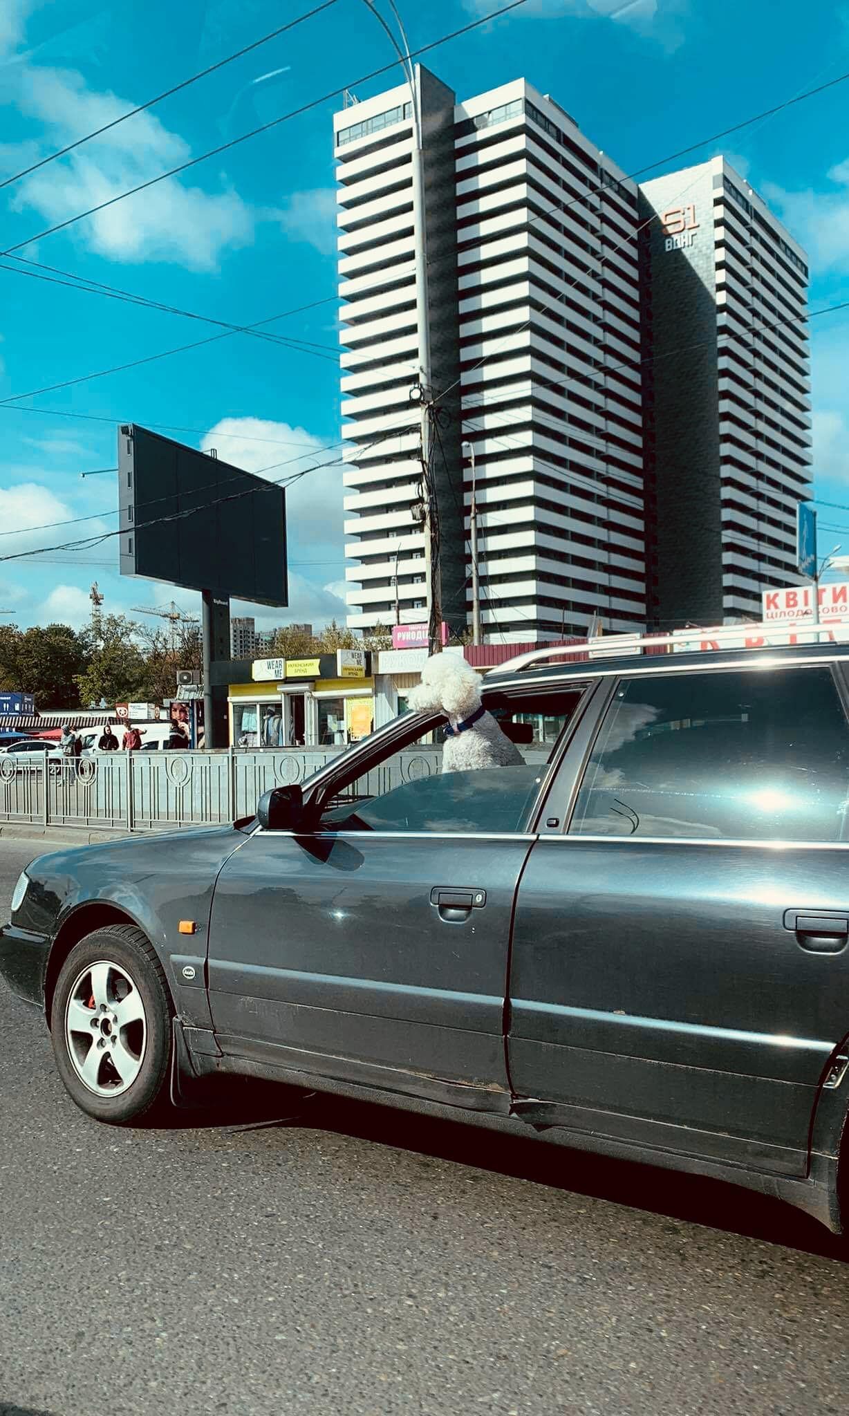
[[[546,803],[552,793],[552,789],[559,780],[560,766],[565,756],[569,752],[569,746],[580,729],[582,724],[587,716],[587,709],[593,700],[596,698],[601,681],[596,675],[580,674],[565,677],[563,680],[556,680],[552,683],[550,677],[546,675],[545,683],[492,683],[483,684],[483,704],[487,707],[487,697],[498,694],[498,698],[521,698],[526,701],[533,697],[550,698],[552,694],[559,692],[577,692],[579,701],[574,707],[574,712],[569,722],[563,726],[558,741],[552,743],[550,760],[548,763],[548,775],[541,783],[536,799],[529,804],[525,813],[525,820],[521,828],[515,831],[327,831],[321,830],[318,817],[330,803],[330,800],[344,792],[347,786],[357,780],[357,777],[364,776],[372,767],[385,762],[388,756],[393,752],[402,752],[405,746],[413,743],[423,733],[433,731],[446,724],[446,714],[405,714],[402,718],[393,719],[386,728],[378,729],[372,733],[365,743],[351,748],[348,752],[342,753],[333,765],[324,767],[316,777],[307,783],[307,790],[304,792],[304,807],[310,817],[314,818],[314,824],[306,831],[265,831],[263,834],[275,835],[308,835],[308,837],[335,837],[335,835],[416,835],[416,837],[433,837],[437,840],[447,840],[450,837],[511,837],[511,838],[526,838],[535,837],[538,833],[538,824],[545,814]],[[262,827],[259,828],[262,830]]]

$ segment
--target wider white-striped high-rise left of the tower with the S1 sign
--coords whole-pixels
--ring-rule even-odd
[[[456,102],[417,69],[443,617],[470,612],[471,456],[484,634],[645,622],[637,188],[524,79]],[[334,116],[348,624],[426,617],[412,110]],[[463,445],[468,447],[464,452]]]

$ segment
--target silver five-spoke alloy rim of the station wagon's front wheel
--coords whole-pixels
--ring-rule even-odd
[[[65,1045],[82,1085],[120,1096],[142,1070],[147,1017],[126,969],[100,959],[76,976],[65,1007]]]

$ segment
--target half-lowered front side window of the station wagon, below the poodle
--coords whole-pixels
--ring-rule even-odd
[[[456,755],[446,763],[444,729],[434,731],[430,721],[426,732],[400,748],[386,748],[368,770],[337,789],[323,811],[323,828],[433,834],[525,830],[580,697],[579,690],[545,698],[492,695],[487,707],[504,735],[499,766],[466,767]]]

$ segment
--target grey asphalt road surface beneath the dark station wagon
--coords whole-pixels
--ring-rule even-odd
[[[37,850],[0,841],[1,918]],[[284,1114],[252,1085],[96,1126],[0,993],[0,1416],[843,1410],[849,1269],[791,1209],[383,1107]]]

